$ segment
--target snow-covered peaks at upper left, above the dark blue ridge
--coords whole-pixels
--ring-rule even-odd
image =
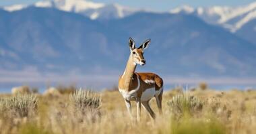
[[[117,3],[106,5],[86,0],[42,0],[32,5],[10,5],[3,7],[3,9],[5,11],[18,11],[29,6],[56,8],[61,11],[79,13],[91,19],[116,19],[139,11],[139,9],[125,7]]]

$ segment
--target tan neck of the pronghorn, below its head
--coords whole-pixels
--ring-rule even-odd
[[[137,65],[135,64],[135,62],[133,62],[132,55],[130,54],[129,60],[128,60],[126,68],[125,68],[125,72],[123,72],[123,76],[122,76],[122,78],[124,79],[124,82],[125,82],[124,83],[125,89],[129,88],[129,85],[133,78],[133,74],[135,72],[136,66]]]

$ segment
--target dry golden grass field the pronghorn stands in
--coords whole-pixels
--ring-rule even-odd
[[[2,102],[13,97],[0,96]],[[163,115],[158,115],[153,98],[156,121],[141,109],[140,122],[129,118],[121,94],[114,90],[92,95],[101,96],[101,106],[83,110],[77,109],[70,94],[34,96],[36,107],[22,116],[17,113],[23,108],[8,110],[0,101],[0,133],[256,133],[256,90],[165,91]]]

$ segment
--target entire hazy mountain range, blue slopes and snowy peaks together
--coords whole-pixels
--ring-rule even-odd
[[[138,68],[142,71],[189,78],[255,78],[253,3],[235,8],[183,6],[170,12],[152,13],[84,0],[3,7],[0,88],[8,82],[42,84],[49,78],[84,83],[84,76],[90,75],[98,77],[87,78],[89,83],[113,85],[129,56],[129,37],[137,46],[146,38],[152,39],[145,53],[149,66]],[[234,26],[241,20],[248,22],[235,34],[216,26]]]

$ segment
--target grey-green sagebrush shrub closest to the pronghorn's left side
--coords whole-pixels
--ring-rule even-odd
[[[98,109],[102,104],[102,98],[90,90],[75,90],[69,98],[75,108],[82,113],[86,110]]]

